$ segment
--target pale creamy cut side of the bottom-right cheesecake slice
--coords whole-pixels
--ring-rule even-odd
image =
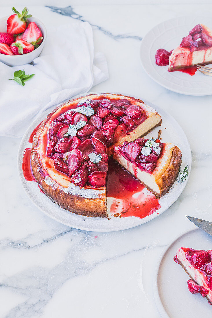
[[[194,268],[194,266],[187,260],[186,253],[183,248],[179,248],[177,251],[177,259],[184,266],[188,275],[200,286],[203,286],[208,290],[207,298],[212,302],[212,291],[208,287],[208,275],[203,271]]]

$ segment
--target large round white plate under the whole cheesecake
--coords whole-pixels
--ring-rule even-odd
[[[99,92],[95,92],[99,93]],[[89,93],[88,93],[89,94]],[[134,96],[135,97],[135,96]],[[136,97],[138,98],[138,97]],[[188,176],[191,170],[191,149],[187,140],[185,133],[179,124],[173,119],[171,115],[166,113],[163,109],[152,105],[144,101],[147,105],[154,107],[162,117],[162,126],[156,127],[152,130],[149,136],[150,138],[155,136],[157,138],[159,129],[162,129],[162,142],[174,142],[182,152],[182,165],[184,168],[188,165]],[[33,129],[39,125],[39,123],[49,114],[55,107],[48,109],[46,112],[41,114],[27,129],[23,139],[21,141],[19,150],[18,150],[18,173],[21,179],[21,183],[26,191],[27,195],[30,197],[32,202],[46,215],[54,220],[63,223],[65,225],[88,231],[119,231],[128,229],[137,225],[146,223],[153,218],[159,216],[161,213],[166,211],[180,196],[183,189],[186,186],[187,180],[183,183],[176,181],[172,188],[169,190],[169,193],[166,193],[160,200],[160,208],[146,218],[140,219],[137,217],[127,217],[127,218],[90,218],[84,217],[72,212],[68,212],[62,209],[57,204],[54,204],[45,194],[42,194],[39,191],[37,183],[33,181],[26,181],[22,171],[22,157],[24,150],[26,148],[31,148],[32,144],[28,142],[29,136],[31,135]],[[166,129],[165,129],[166,128]],[[148,138],[148,137],[147,137]]]

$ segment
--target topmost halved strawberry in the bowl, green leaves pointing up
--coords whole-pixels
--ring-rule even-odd
[[[14,7],[12,11],[15,13],[7,19],[7,32],[11,34],[19,34],[25,31],[27,26],[27,18],[32,17],[28,14],[28,10],[25,7],[22,13],[18,12]]]

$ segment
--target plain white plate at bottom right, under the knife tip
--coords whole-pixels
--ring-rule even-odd
[[[211,250],[212,237],[199,228],[190,229],[175,238],[162,253],[154,278],[154,297],[160,315],[165,318],[211,317],[212,305],[200,294],[191,294],[190,279],[173,257],[179,247]]]

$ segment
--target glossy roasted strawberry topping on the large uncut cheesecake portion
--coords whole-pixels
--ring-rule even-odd
[[[143,109],[127,99],[82,100],[76,109],[60,114],[51,123],[46,154],[54,160],[55,169],[66,173],[76,185],[102,187],[108,171],[107,147],[146,118]],[[142,146],[135,143],[127,149],[137,160]],[[148,163],[155,157],[152,152],[153,161]],[[138,161],[143,162],[142,158]]]

